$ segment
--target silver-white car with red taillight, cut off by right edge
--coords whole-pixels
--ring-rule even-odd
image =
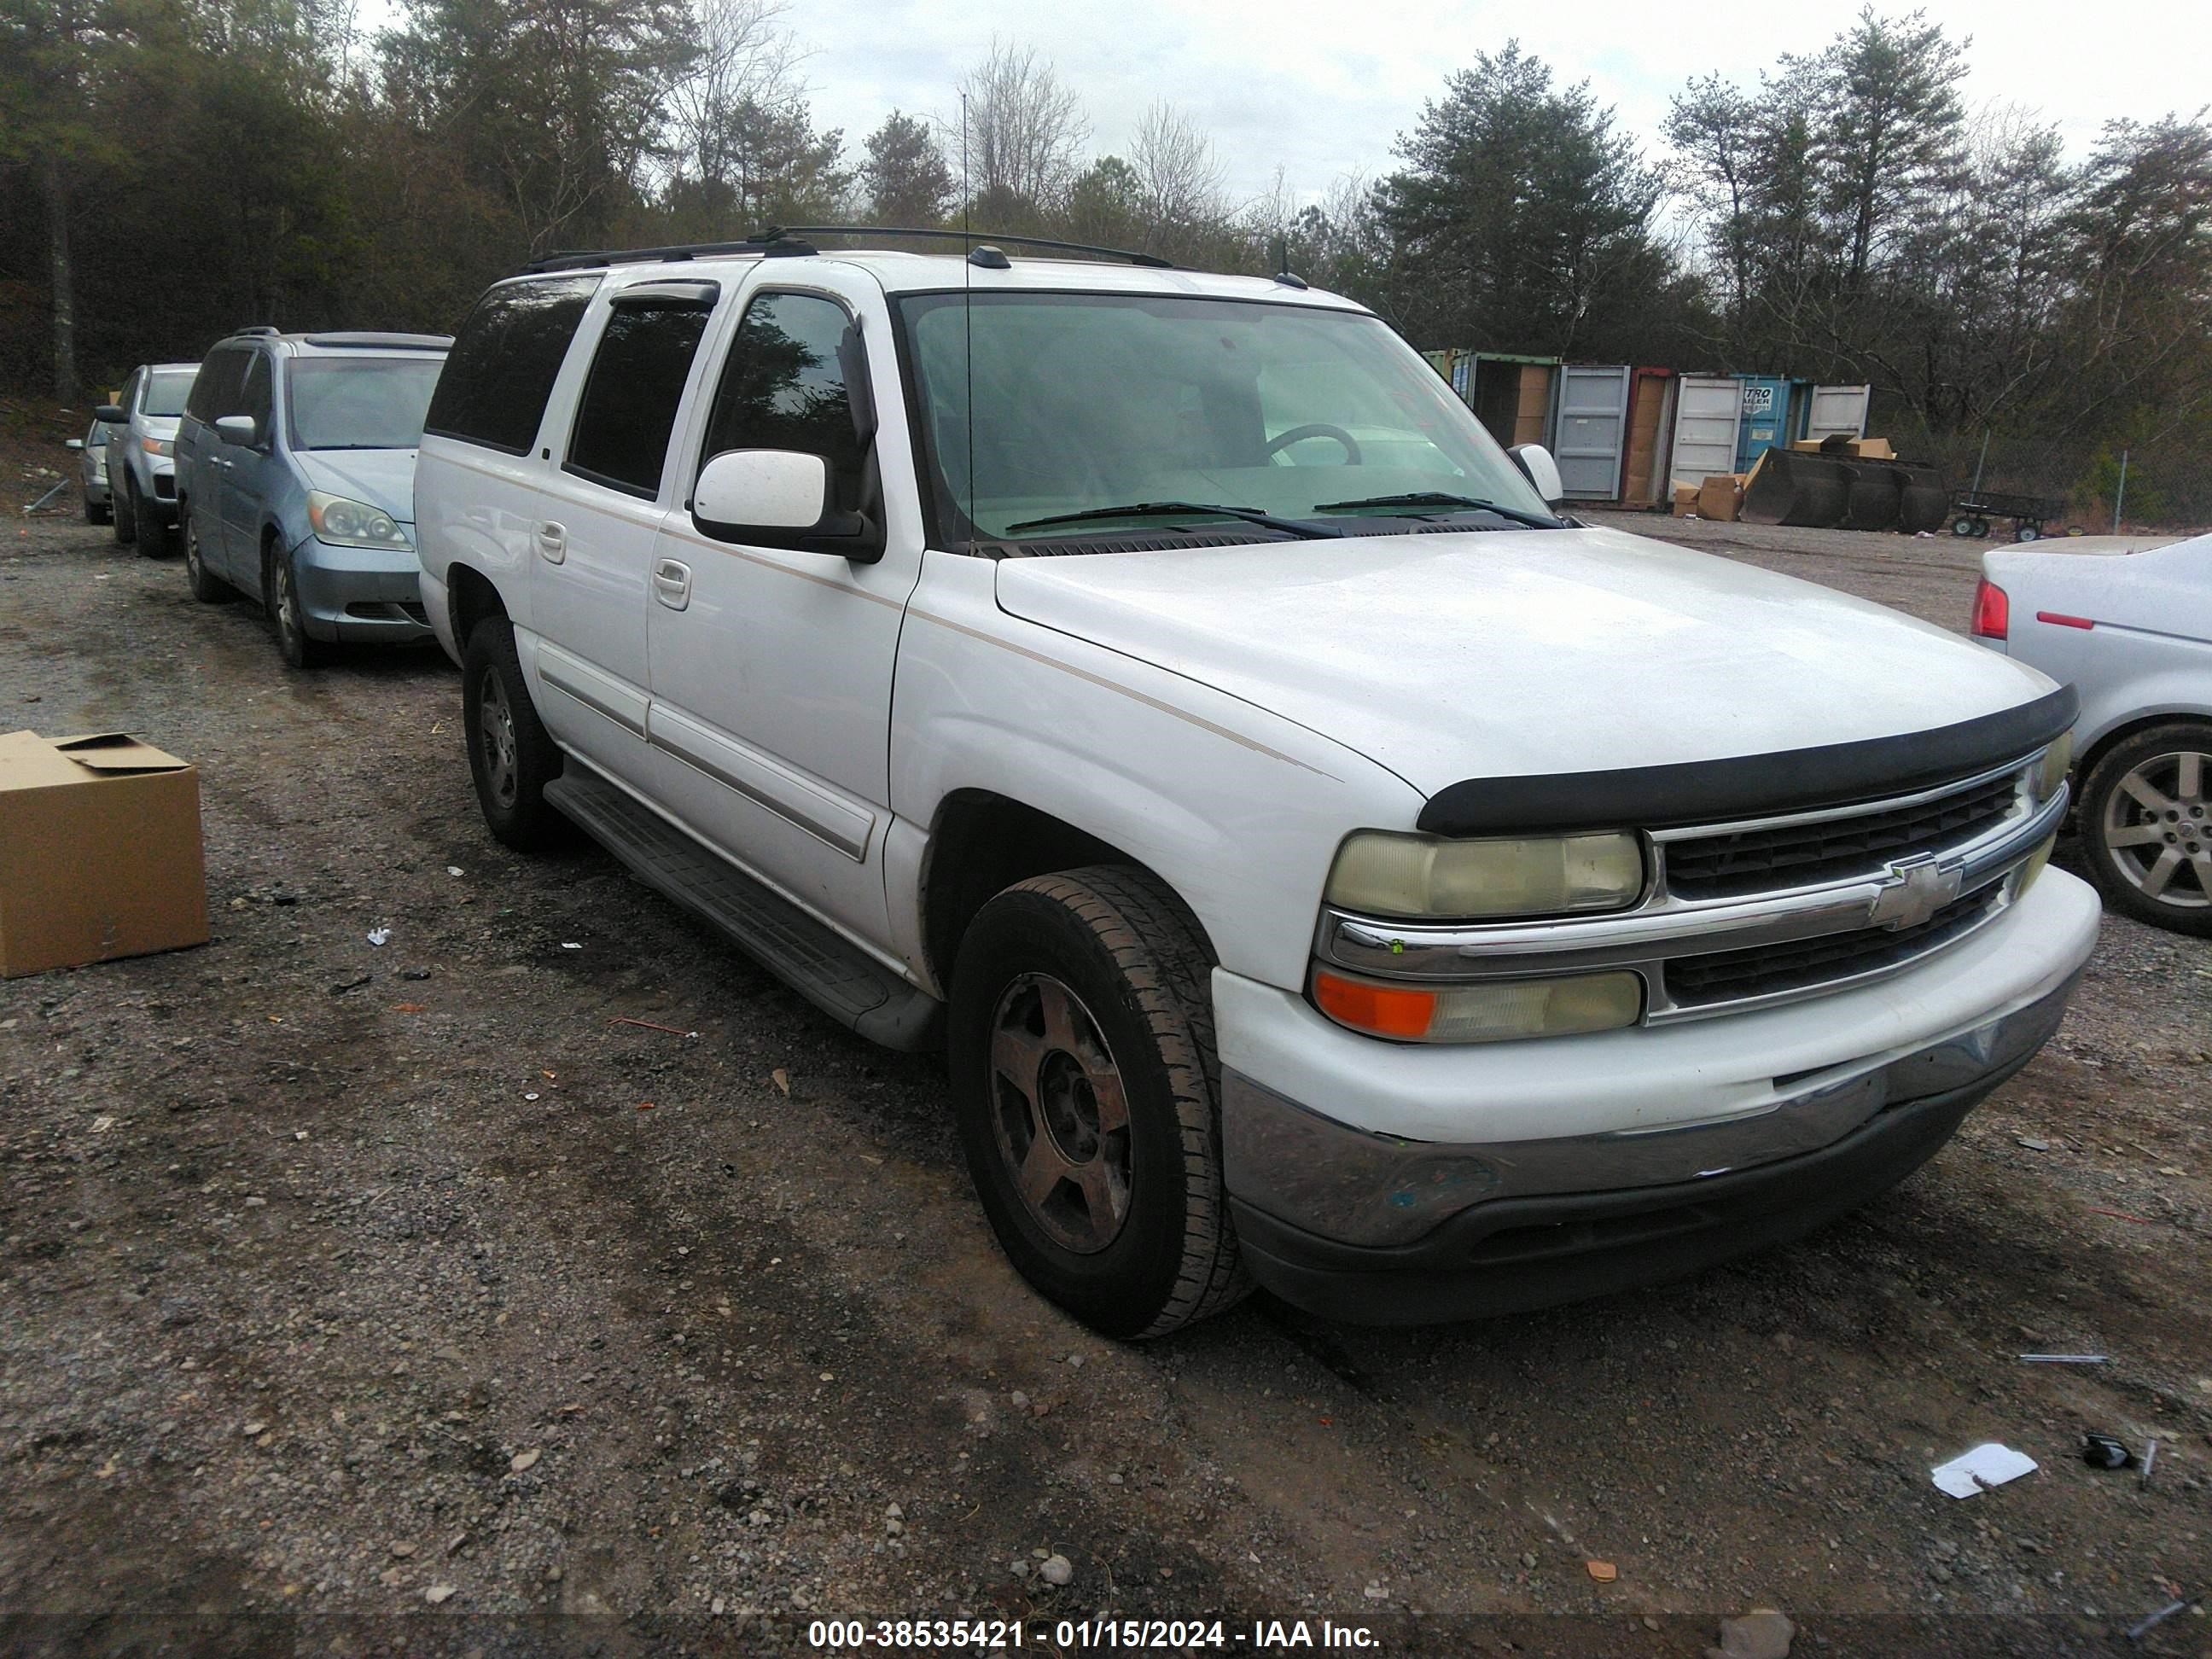
[[[1982,555],[1975,639],[2070,681],[2077,823],[2112,909],[2212,936],[2212,535]]]

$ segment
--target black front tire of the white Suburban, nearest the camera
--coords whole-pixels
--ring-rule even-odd
[[[1164,1336],[1252,1287],[1221,1183],[1210,969],[1168,887],[1104,865],[1009,887],[960,940],[947,1042],[975,1194],[1020,1274],[1106,1336]],[[1035,1055],[1029,1093],[1002,1040]],[[1115,1086],[1126,1113],[1102,1106]],[[1051,1179],[1035,1201],[1031,1166]]]

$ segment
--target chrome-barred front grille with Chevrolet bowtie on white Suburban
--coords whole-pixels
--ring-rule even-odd
[[[2057,832],[2039,754],[1927,790],[1648,834],[1644,900],[1528,922],[1323,911],[1316,953],[1385,980],[1632,969],[1644,1024],[1798,1002],[1896,973],[1993,922]]]

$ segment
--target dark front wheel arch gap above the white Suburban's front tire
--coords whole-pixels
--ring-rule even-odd
[[[1066,818],[998,790],[953,790],[938,803],[922,856],[922,956],[938,984],[951,984],[953,958],[978,911],[1031,876],[1084,865],[1141,869],[1190,916],[1208,956],[1221,958],[1197,907],[1159,869]]]

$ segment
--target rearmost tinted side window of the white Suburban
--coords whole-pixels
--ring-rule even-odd
[[[425,431],[529,453],[599,274],[502,283],[476,301],[429,400]]]

